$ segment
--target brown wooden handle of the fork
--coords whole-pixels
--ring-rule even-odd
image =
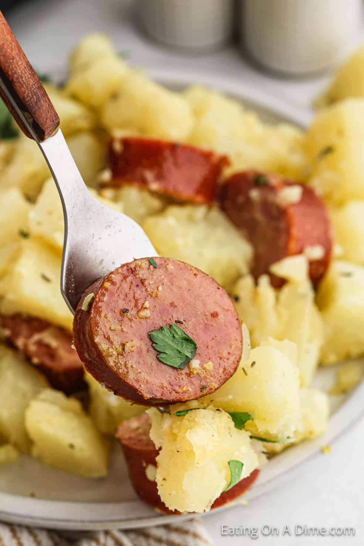
[[[0,11],[0,96],[29,138],[40,142],[57,132],[59,117],[37,74]],[[14,105],[15,102],[15,105]],[[19,115],[17,108],[23,116]]]

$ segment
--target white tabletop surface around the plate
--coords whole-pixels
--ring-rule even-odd
[[[9,16],[23,49],[41,72],[64,66],[68,52],[92,31],[108,33],[120,51],[130,52],[130,62],[144,67],[169,65],[193,73],[218,72],[226,78],[240,79],[302,108],[309,108],[312,97],[327,76],[285,80],[260,72],[244,61],[237,49],[228,48],[201,57],[186,56],[151,43],[133,22],[129,0],[38,0]],[[364,39],[353,37],[353,47]],[[364,401],[363,401],[364,403]],[[334,444],[330,455],[303,465],[288,484],[255,500],[248,506],[208,515],[204,521],[218,546],[237,546],[254,542],[249,536],[222,536],[221,526],[258,528],[255,542],[272,546],[305,544],[364,544],[364,421]],[[279,536],[263,536],[261,527],[277,527]],[[282,536],[289,525],[292,536]],[[294,526],[355,527],[355,537],[294,536]]]

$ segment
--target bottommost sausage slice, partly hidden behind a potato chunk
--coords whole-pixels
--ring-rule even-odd
[[[159,512],[178,515],[180,512],[167,508],[158,495],[157,484],[147,477],[148,465],[157,466],[158,450],[150,439],[151,419],[147,413],[132,417],[122,423],[117,430],[124,456],[128,465],[130,481],[136,494],[142,501],[153,506]],[[258,478],[259,470],[254,470],[250,476],[240,480],[228,491],[222,493],[213,503],[211,509],[218,508],[235,500],[246,491]]]

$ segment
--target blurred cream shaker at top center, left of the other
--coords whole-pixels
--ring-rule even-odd
[[[234,0],[138,0],[142,25],[152,38],[195,52],[230,40],[234,8]]]

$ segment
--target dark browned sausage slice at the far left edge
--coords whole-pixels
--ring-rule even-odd
[[[71,394],[84,386],[85,370],[66,330],[21,314],[3,316],[1,323],[5,337],[39,367],[53,387]]]

